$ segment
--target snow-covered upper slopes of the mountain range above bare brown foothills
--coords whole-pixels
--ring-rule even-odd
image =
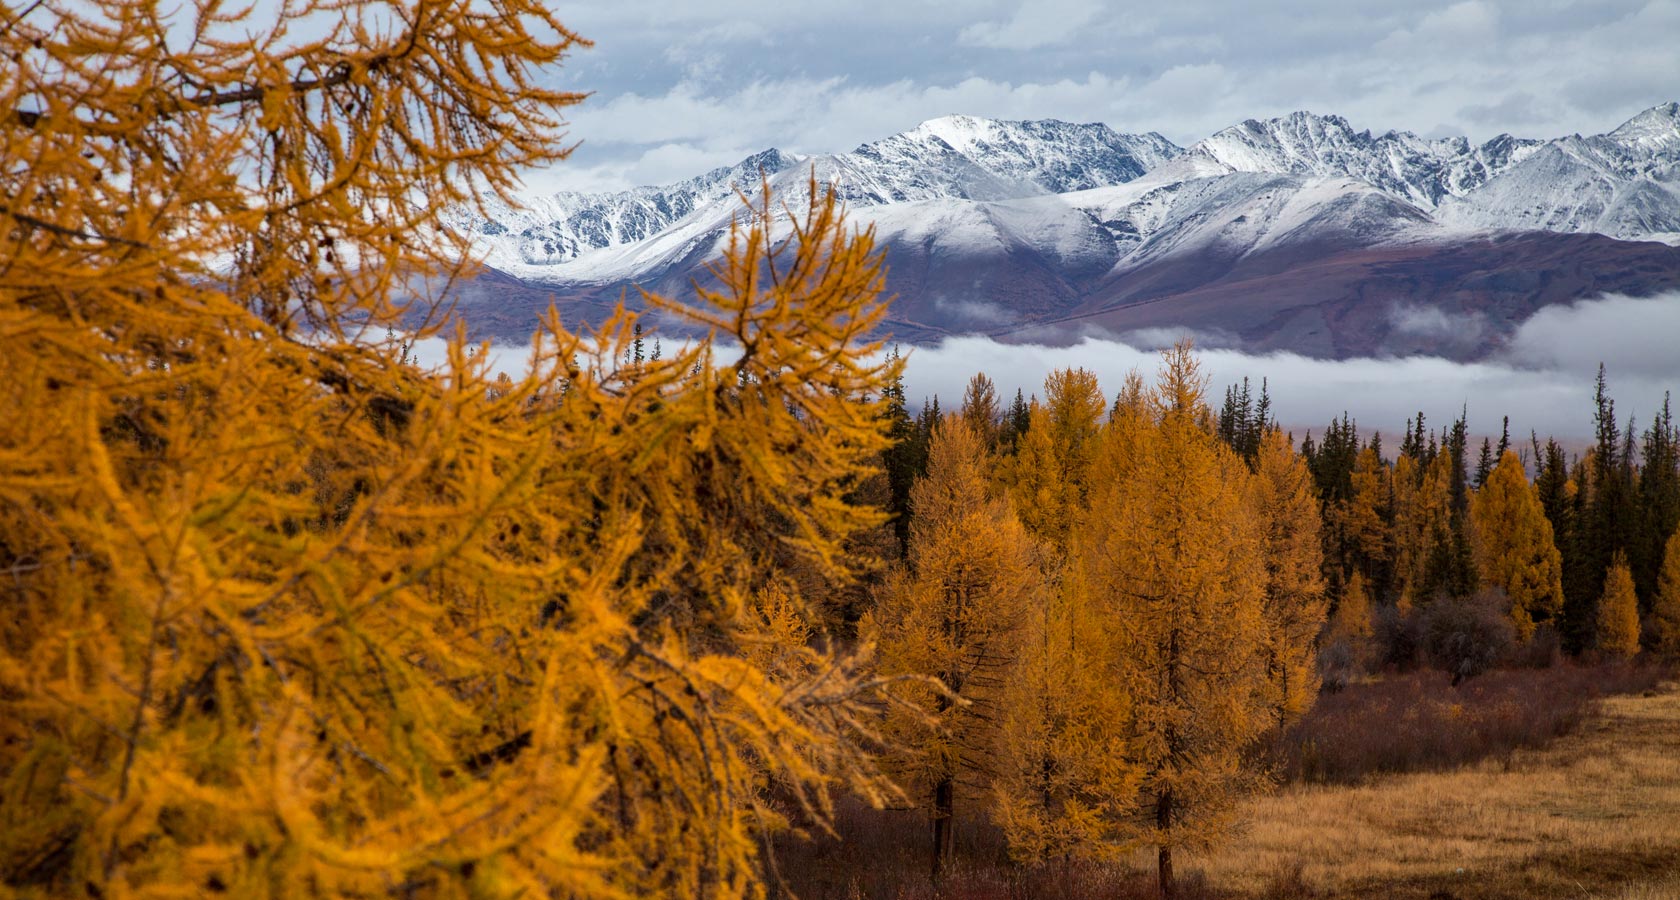
[[[1119,257],[1203,240],[1263,249],[1337,228],[1359,240],[1551,230],[1673,243],[1680,104],[1608,134],[1482,144],[1373,134],[1299,111],[1248,119],[1188,149],[1100,123],[942,116],[848,153],[768,149],[674,185],[534,196],[524,210],[449,223],[472,233],[491,265],[521,277],[640,279],[716,250],[739,213],[736,190],[756,193],[759,173],[793,205],[815,175],[853,218],[894,233],[949,228],[942,245],[953,250],[1025,242],[1057,259],[1099,245]],[[1265,190],[1255,185],[1267,178],[1284,178],[1277,190],[1292,193],[1245,193]]]

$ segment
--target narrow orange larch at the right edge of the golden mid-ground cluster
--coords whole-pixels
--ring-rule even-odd
[[[1265,561],[1265,653],[1278,725],[1319,695],[1315,643],[1324,628],[1324,549],[1312,472],[1277,428],[1260,438],[1253,467],[1255,512]]]

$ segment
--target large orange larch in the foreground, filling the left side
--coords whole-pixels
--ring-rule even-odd
[[[517,379],[371,338],[460,272],[440,208],[564,154],[576,44],[529,0],[0,12],[8,892],[744,897],[889,789],[872,682],[763,601],[880,522],[880,264],[815,185],[648,297],[711,338],[633,371],[623,312]]]

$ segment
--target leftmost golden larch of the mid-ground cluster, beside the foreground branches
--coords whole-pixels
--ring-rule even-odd
[[[929,799],[936,871],[951,853],[958,789],[978,796],[990,777],[1005,682],[1043,593],[1032,537],[990,495],[981,440],[961,416],[934,432],[927,475],[911,490],[911,569],[887,581],[864,625],[879,633],[882,675],[942,685],[912,682],[911,709],[887,720],[902,747],[892,767]]]

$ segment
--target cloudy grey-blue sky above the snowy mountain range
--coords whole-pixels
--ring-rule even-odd
[[[969,114],[1191,144],[1295,109],[1423,136],[1609,131],[1680,99],[1680,0],[561,2],[595,42],[571,160],[533,190],[670,183]]]

